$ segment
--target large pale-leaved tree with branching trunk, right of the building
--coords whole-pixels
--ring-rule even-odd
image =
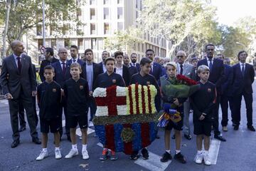
[[[142,22],[142,30],[150,36],[170,41],[168,56],[174,56],[175,51],[186,47],[181,46],[185,41],[193,40],[195,44],[191,44],[192,47],[201,49],[203,43],[220,39],[218,24],[213,19],[215,10],[208,1],[144,0],[144,9],[138,21]]]

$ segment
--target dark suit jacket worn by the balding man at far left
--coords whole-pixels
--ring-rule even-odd
[[[18,98],[22,90],[26,97],[32,97],[32,91],[36,90],[36,76],[31,57],[21,56],[21,73],[18,73],[14,55],[4,58],[0,80],[4,95],[11,93]]]

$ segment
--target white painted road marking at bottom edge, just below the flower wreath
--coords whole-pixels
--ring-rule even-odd
[[[156,155],[153,152],[149,152],[148,160],[144,160],[140,157],[134,163],[151,171],[164,171],[170,165],[171,161],[161,162],[160,159],[161,156]]]

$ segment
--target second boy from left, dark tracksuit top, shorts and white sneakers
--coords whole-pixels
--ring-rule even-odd
[[[82,159],[89,159],[87,152],[87,100],[89,97],[88,83],[85,79],[80,78],[82,69],[79,63],[70,65],[70,74],[72,78],[65,81],[64,94],[67,99],[68,125],[70,127],[70,138],[72,148],[65,158],[71,158],[78,155],[75,129],[79,124],[82,132]]]

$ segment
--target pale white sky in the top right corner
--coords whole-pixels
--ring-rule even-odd
[[[256,18],[256,0],[211,0],[217,6],[216,19],[220,24],[233,26],[234,22],[244,16]]]

